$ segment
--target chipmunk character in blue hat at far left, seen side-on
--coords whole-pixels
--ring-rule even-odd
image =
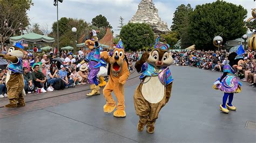
[[[20,42],[16,43],[14,47],[10,47],[6,55],[0,54],[4,59],[11,61],[6,76],[7,94],[10,103],[5,105],[5,108],[16,108],[17,106],[26,105],[24,100],[24,78],[22,75],[23,55],[23,46]]]

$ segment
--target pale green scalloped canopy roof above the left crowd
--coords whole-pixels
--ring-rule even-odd
[[[47,37],[45,35],[36,34],[36,33],[28,33],[25,35],[10,37],[11,42],[19,42],[21,40],[26,42],[54,42],[54,38]]]

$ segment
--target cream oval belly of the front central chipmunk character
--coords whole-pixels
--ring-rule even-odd
[[[142,95],[150,103],[158,103],[164,98],[165,86],[160,82],[158,76],[145,78],[142,85]]]

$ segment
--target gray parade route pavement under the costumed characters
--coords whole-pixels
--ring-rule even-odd
[[[243,83],[237,111],[219,111],[223,93],[212,89],[219,72],[171,66],[172,97],[159,113],[155,132],[137,131],[133,92],[125,88],[126,118],[104,113],[103,95],[0,119],[0,142],[255,142],[256,88]],[[138,78],[138,77],[137,77]]]

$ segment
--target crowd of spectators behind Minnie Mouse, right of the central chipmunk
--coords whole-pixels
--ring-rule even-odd
[[[198,67],[200,69],[223,71],[228,64],[228,52],[221,51],[172,51],[173,64],[179,66]],[[238,71],[237,76],[244,82],[250,82],[250,86],[256,87],[256,54],[254,51],[244,54],[244,65]]]

